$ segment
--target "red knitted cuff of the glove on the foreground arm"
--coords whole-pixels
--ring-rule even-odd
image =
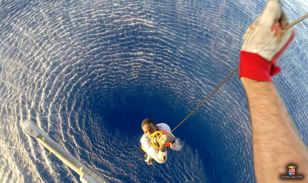
[[[255,81],[272,82],[272,66],[272,63],[258,54],[240,51],[240,77],[247,77]],[[280,68],[275,68],[280,71]]]

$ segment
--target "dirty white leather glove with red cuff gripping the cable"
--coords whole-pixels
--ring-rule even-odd
[[[294,38],[279,0],[268,0],[264,11],[243,36],[240,51],[240,77],[256,81],[272,81],[271,76],[280,72],[277,59]]]

